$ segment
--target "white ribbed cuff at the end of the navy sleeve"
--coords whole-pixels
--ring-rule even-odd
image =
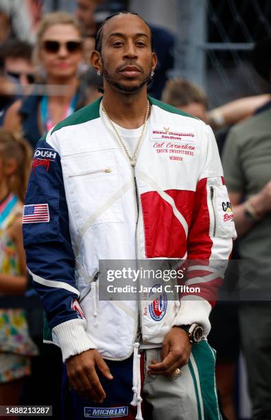
[[[52,329],[52,334],[56,336],[60,345],[63,362],[66,362],[72,355],[96,349],[95,344],[86,335],[85,328],[85,320],[71,319]]]

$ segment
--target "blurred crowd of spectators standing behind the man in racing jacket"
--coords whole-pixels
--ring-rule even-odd
[[[30,19],[20,26],[19,16],[24,14],[16,1],[13,9],[0,1],[1,296],[23,296],[32,288],[23,250],[23,202],[30,172],[44,164],[48,170],[50,165],[50,159],[33,161],[32,156],[38,140],[45,139],[56,124],[103,95],[103,75],[89,59],[100,48],[95,34],[104,17],[123,9],[123,4],[116,8],[115,3],[78,0],[75,15],[42,14],[35,8],[27,30]],[[241,261],[236,283],[248,295],[241,303],[218,302],[211,312],[209,342],[217,351],[220,406],[224,418],[237,419],[241,348],[248,366],[252,419],[270,419],[271,95],[244,97],[210,110],[200,86],[182,78],[169,79],[174,36],[153,25],[150,30],[158,63],[148,80],[148,95],[215,130],[229,208],[235,217],[238,240],[233,258]],[[268,82],[270,46],[271,38],[257,43],[252,56],[255,69]],[[126,134],[125,128],[117,127]],[[233,281],[229,277],[228,272],[224,285]],[[37,309],[32,319],[21,308],[0,309],[0,406],[53,405],[54,418],[59,420],[61,381],[61,351],[43,344],[43,310]]]

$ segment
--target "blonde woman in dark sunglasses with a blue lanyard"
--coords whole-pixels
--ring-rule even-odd
[[[45,14],[38,27],[34,55],[40,81],[47,88],[14,102],[4,120],[5,128],[22,130],[33,148],[45,132],[77,108],[78,68],[83,56],[77,19],[67,12]]]

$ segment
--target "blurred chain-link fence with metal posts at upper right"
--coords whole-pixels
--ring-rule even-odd
[[[202,84],[211,106],[267,93],[250,63],[257,40],[271,36],[270,0],[182,0],[176,73]]]

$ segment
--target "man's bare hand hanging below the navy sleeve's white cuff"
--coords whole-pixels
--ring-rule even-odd
[[[84,397],[91,398],[95,403],[102,403],[106,398],[104,388],[99,382],[97,369],[108,380],[113,380],[110,370],[102,356],[95,349],[71,356],[66,362],[67,374],[71,386]]]

